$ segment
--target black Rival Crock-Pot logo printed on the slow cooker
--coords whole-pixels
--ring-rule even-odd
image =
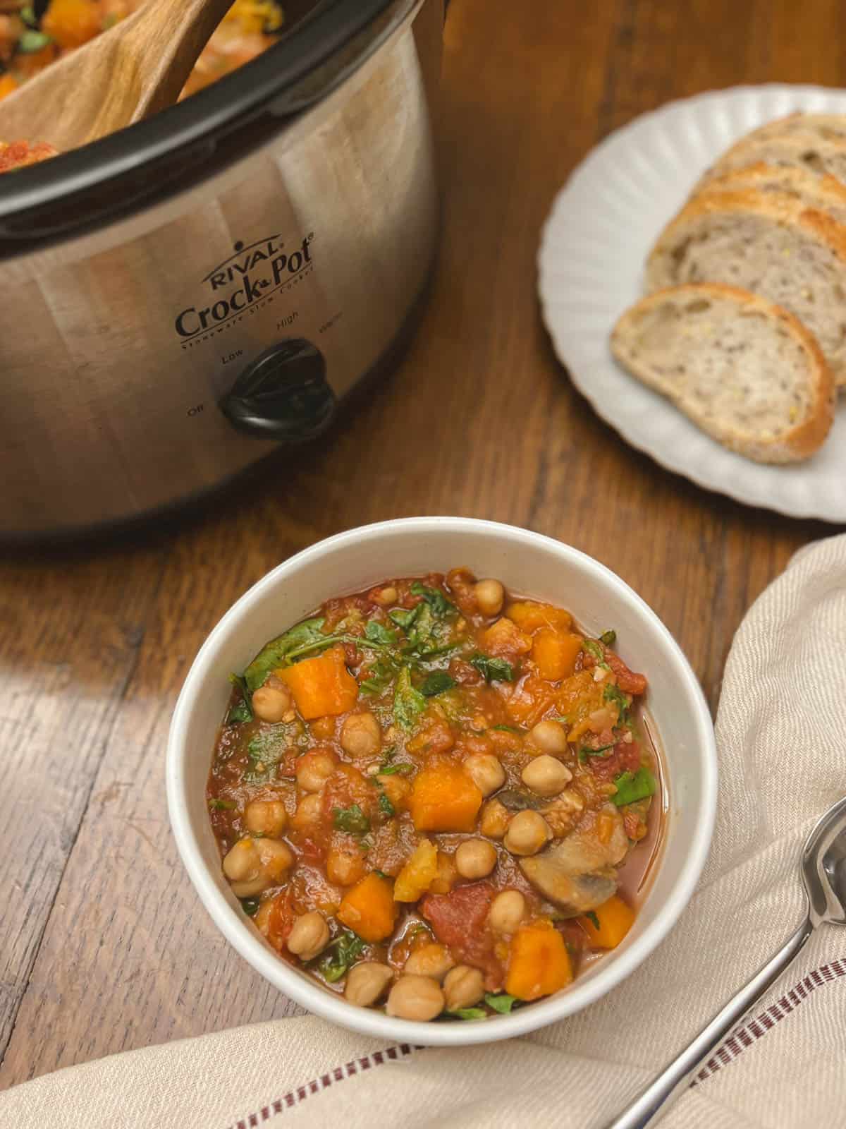
[[[202,280],[211,290],[205,304],[188,306],[174,322],[185,342],[202,340],[233,325],[245,314],[255,313],[273,301],[273,296],[290,288],[311,270],[310,231],[294,251],[285,251],[279,234],[265,236],[245,246],[235,244],[235,254],[218,263]]]

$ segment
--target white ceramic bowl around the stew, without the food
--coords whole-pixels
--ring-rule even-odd
[[[650,680],[649,709],[666,754],[669,811],[662,861],[632,931],[614,952],[548,999],[484,1023],[412,1023],[353,1007],[281,960],[230,892],[209,823],[205,784],[228,675],[267,639],[331,596],[388,577],[466,564],[508,588],[571,611],[590,631],[614,627],[619,650]],[[321,541],[280,564],[227,612],[185,680],[170,726],[170,823],[200,898],[223,936],[265,979],[317,1015],[368,1035],[456,1045],[509,1039],[579,1012],[619,983],[672,928],[707,855],[716,802],[716,749],[705,699],[687,659],[655,613],[605,566],[549,537],[493,522],[415,517]]]

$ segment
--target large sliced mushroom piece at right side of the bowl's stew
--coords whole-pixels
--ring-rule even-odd
[[[564,839],[556,839],[539,855],[520,859],[520,869],[544,898],[575,917],[596,909],[617,890],[615,867],[628,850],[623,817],[613,804],[602,813],[614,820],[607,842],[597,834],[597,813],[589,813]]]

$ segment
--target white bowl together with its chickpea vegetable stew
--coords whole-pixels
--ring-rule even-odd
[[[519,1035],[628,975],[714,821],[711,717],[615,574],[491,522],[351,530],[250,588],[173,718],[171,825],[271,983],[371,1035]]]

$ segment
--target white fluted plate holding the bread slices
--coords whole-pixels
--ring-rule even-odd
[[[555,199],[538,255],[540,303],[558,358],[633,447],[750,506],[846,522],[846,397],[823,447],[765,466],[715,443],[620,368],[614,323],[641,296],[646,255],[699,175],[733,141],[795,110],[846,114],[846,90],[757,86],[672,102],[609,134]]]

